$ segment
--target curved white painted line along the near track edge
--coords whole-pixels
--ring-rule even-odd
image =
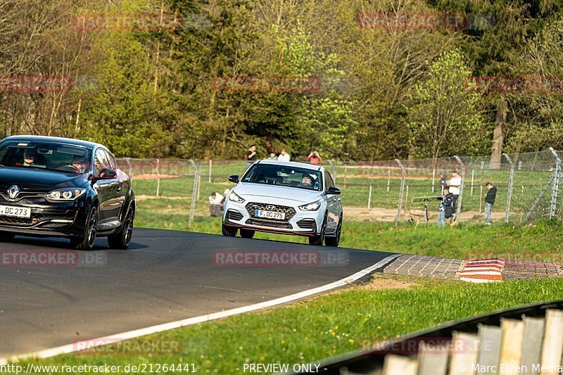
[[[346,284],[350,284],[353,281],[361,279],[365,275],[369,274],[369,272],[374,271],[375,269],[384,267],[387,265],[391,260],[399,258],[403,256],[403,254],[393,254],[389,255],[388,257],[380,260],[379,262],[371,265],[365,269],[362,269],[355,274],[350,275],[349,277],[345,277],[344,279],[340,279],[338,281],[334,281],[330,284],[326,284],[323,286],[317,286],[317,288],[308,289],[307,291],[302,291],[298,293],[294,293],[291,295],[286,295],[285,297],[275,298],[273,300],[268,300],[261,303],[255,303],[254,305],[236,307],[230,310],[224,310],[221,312],[213,312],[211,314],[200,315],[198,317],[191,317],[187,319],[177,320],[175,322],[168,322],[164,324],[157,324],[156,326],[149,326],[146,328],[135,329],[133,331],[127,331],[124,333],[116,333],[114,335],[105,336],[101,338],[93,338],[85,341],[77,341],[76,343],[67,344],[57,346],[55,348],[39,350],[37,352],[29,352],[21,355],[10,355],[6,357],[0,357],[0,365],[6,365],[8,362],[14,362],[17,360],[25,360],[29,358],[48,358],[53,357],[55,355],[61,354],[68,354],[71,352],[79,351],[77,348],[84,348],[83,345],[90,345],[86,346],[85,348],[91,348],[92,346],[98,345],[106,345],[110,343],[116,343],[118,341],[124,341],[131,338],[136,338],[139,336],[146,336],[150,335],[151,333],[158,333],[162,331],[168,331],[170,329],[181,328],[183,326],[191,326],[193,324],[209,322],[211,320],[222,319],[226,317],[232,317],[233,315],[242,314],[243,312],[252,312],[256,310],[262,310],[267,307],[274,307],[276,305],[282,305],[284,303],[289,303],[294,300],[300,300],[301,298],[310,297],[311,295],[315,295],[318,293],[323,293],[326,291],[330,291],[334,288],[339,288],[340,286],[345,286]],[[96,345],[96,343],[100,343]]]

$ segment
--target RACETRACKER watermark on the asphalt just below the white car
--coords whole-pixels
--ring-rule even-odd
[[[346,267],[348,252],[320,250],[216,250],[216,267]]]

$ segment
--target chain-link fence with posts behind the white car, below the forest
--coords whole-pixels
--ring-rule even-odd
[[[436,222],[443,185],[452,172],[461,177],[455,215],[450,221],[484,222],[486,183],[496,187],[493,222],[526,223],[563,220],[559,182],[563,174],[559,155],[547,150],[490,156],[453,156],[437,160],[336,162],[322,165],[341,188],[345,215],[374,222]],[[243,174],[243,160],[120,159],[122,170],[134,181],[137,197],[190,201],[194,215],[210,215],[208,197],[224,195],[233,184],[231,174]],[[195,198],[195,199],[194,199]]]

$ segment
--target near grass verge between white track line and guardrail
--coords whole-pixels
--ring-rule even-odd
[[[242,374],[244,363],[315,362],[358,349],[366,341],[375,343],[453,319],[562,298],[560,279],[493,284],[417,280],[406,290],[349,288],[289,307],[151,336],[182,341],[179,355],[70,354],[32,362],[122,366],[194,363],[200,374]]]

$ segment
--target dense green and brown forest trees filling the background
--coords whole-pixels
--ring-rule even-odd
[[[243,158],[253,143],[260,158],[281,148],[355,160],[481,154],[491,152],[493,131],[504,151],[561,148],[560,94],[467,84],[561,77],[560,11],[554,0],[0,0],[0,77],[75,83],[44,92],[3,86],[0,136],[214,159]],[[381,30],[361,27],[365,13],[461,13],[469,24]],[[178,22],[77,27],[85,14]],[[318,77],[320,89],[217,89],[217,79],[234,76]]]

